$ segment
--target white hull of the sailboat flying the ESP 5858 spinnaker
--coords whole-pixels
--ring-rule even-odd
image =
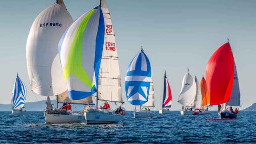
[[[82,115],[46,114],[46,112],[44,113],[44,118],[45,122],[50,124],[78,123],[84,121],[84,116]]]

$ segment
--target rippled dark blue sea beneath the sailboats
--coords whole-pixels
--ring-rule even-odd
[[[209,115],[181,116],[179,111],[154,118],[133,118],[127,112],[119,124],[45,124],[43,112],[12,115],[0,112],[0,143],[105,144],[232,144],[256,143],[256,112],[237,119]]]

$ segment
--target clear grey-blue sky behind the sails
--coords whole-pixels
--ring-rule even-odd
[[[94,8],[100,0],[64,0],[72,18]],[[0,2],[1,104],[10,104],[17,72],[27,87],[26,102],[45,100],[31,92],[26,67],[26,39],[36,16],[55,0],[4,0]],[[212,53],[230,40],[240,82],[242,109],[256,102],[255,0],[106,0],[116,34],[122,78],[129,62],[143,45],[154,80],[155,105],[160,109],[164,68],[172,90],[171,110],[180,110],[182,78],[201,80]],[[52,97],[53,99],[54,97]]]

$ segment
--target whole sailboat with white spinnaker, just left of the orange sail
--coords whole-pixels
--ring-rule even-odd
[[[194,107],[196,92],[196,82],[187,71],[182,80],[182,87],[178,99],[178,103],[183,105],[182,110],[180,111],[181,115],[193,114],[192,108]]]

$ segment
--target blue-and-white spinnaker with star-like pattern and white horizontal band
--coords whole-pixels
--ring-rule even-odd
[[[128,66],[125,77],[126,98],[130,104],[140,106],[148,101],[151,67],[143,49]]]

